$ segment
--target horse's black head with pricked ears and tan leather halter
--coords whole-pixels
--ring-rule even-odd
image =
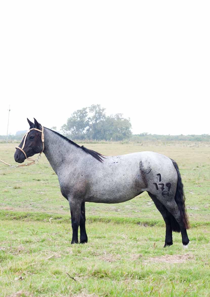
[[[23,139],[15,151],[15,161],[23,163],[25,159],[34,154],[41,153],[44,150],[44,133],[42,126],[34,119],[34,123],[28,120],[30,126],[28,132],[23,136]]]

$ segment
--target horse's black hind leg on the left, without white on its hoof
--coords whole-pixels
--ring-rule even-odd
[[[148,194],[152,198],[153,202],[155,203],[155,206],[158,208],[158,210],[162,214],[162,217],[166,223],[166,238],[165,238],[164,247],[172,245],[173,240],[172,240],[171,214],[168,212],[168,210],[165,208],[165,206],[156,198],[155,195],[152,195],[149,192],[148,192]]]

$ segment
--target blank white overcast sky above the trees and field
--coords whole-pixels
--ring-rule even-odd
[[[134,134],[209,134],[209,1],[1,1],[0,134],[101,104]]]

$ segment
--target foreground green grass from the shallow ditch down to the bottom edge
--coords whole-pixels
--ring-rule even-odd
[[[210,231],[203,227],[189,231],[187,252],[177,233],[174,245],[164,249],[165,228],[156,226],[88,223],[84,245],[71,245],[68,223],[3,220],[0,228],[1,296],[210,293]]]

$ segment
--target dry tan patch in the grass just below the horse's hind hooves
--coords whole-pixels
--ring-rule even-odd
[[[192,260],[194,257],[190,254],[185,255],[164,255],[160,257],[153,257],[145,260],[144,262],[152,262],[152,263],[184,263],[186,261]]]

